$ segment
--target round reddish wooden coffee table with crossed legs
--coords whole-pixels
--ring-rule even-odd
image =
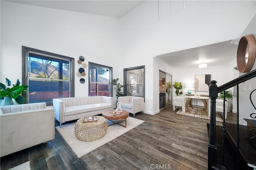
[[[129,112],[126,110],[123,110],[122,113],[120,113],[120,115],[118,115],[118,114],[113,115],[114,111],[116,111],[116,110],[112,109],[112,110],[106,110],[106,111],[102,112],[102,117],[105,117],[109,121],[113,122],[113,124],[110,124],[108,126],[118,124],[118,125],[126,128],[127,127],[126,118],[129,117]],[[121,121],[114,121],[114,120],[121,120]],[[125,125],[120,124],[120,122],[122,122],[122,121],[125,121]]]

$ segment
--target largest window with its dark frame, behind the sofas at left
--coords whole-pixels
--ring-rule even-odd
[[[26,103],[74,97],[74,58],[22,46],[22,82]]]

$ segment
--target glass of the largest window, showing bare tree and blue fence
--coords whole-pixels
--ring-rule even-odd
[[[69,61],[28,54],[29,103],[69,97]]]

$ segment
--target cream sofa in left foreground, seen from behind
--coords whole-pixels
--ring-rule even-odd
[[[1,157],[40,143],[52,143],[55,137],[54,110],[46,108],[46,103],[0,106],[0,123]]]

